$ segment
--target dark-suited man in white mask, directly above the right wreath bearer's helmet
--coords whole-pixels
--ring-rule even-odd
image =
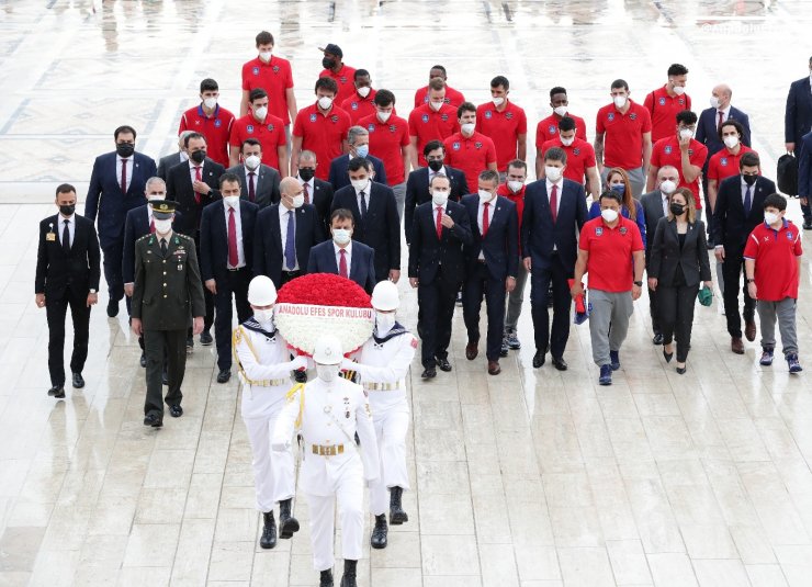
[[[354,240],[375,251],[375,281],[401,279],[401,221],[392,188],[372,181],[372,163],[364,158],[350,161],[350,185],[332,197],[332,210],[352,212]]]

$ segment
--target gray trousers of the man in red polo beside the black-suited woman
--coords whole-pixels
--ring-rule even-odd
[[[619,351],[629,331],[629,318],[634,312],[632,292],[589,290],[589,305],[593,361],[598,366],[608,365],[611,363],[609,351]]]

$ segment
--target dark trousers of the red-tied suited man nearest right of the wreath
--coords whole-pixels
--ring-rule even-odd
[[[442,266],[430,283],[417,286],[422,348],[420,362],[424,368],[437,365],[437,359],[447,359],[451,343],[451,320],[461,283],[443,274]]]

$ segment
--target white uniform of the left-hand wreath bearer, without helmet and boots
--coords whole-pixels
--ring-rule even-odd
[[[287,343],[275,329],[251,318],[234,330],[234,354],[243,381],[243,421],[251,444],[257,509],[271,511],[295,493],[294,458],[289,448],[271,454],[271,434],[293,385]]]

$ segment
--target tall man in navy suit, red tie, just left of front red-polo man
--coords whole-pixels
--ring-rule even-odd
[[[545,179],[525,191],[521,250],[530,271],[530,307],[533,315],[535,354],[533,366],[544,364],[546,351],[559,371],[566,371],[564,349],[569,338],[569,285],[578,257],[578,238],[589,219],[584,187],[563,176],[566,153],[553,147],[544,154]],[[553,291],[553,325],[550,330],[548,292]]]

